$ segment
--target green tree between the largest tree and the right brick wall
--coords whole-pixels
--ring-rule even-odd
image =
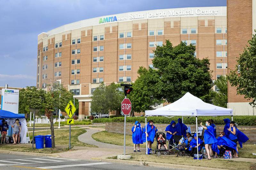
[[[220,76],[219,79],[215,80],[215,85],[219,91],[215,92],[212,103],[216,106],[227,108],[228,103],[228,78],[227,76]]]

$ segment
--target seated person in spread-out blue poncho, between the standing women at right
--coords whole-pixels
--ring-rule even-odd
[[[220,132],[219,137],[217,138],[217,145],[218,145],[218,149],[223,148],[224,150],[235,150],[236,152],[238,152],[236,150],[236,143],[232,142],[230,139],[227,138],[227,135],[225,135],[225,133],[223,131]],[[217,158],[217,152],[215,152],[215,156],[214,158]]]

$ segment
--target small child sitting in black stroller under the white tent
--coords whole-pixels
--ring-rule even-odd
[[[164,151],[164,155],[167,154],[168,151],[168,148],[167,148],[167,145],[166,145],[166,138],[165,138],[165,133],[156,133],[156,141],[157,141],[157,144],[156,144],[156,148],[157,150],[155,150],[155,153],[157,152],[157,155],[161,155],[161,151]]]

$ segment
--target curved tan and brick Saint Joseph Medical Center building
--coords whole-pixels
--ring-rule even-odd
[[[153,67],[153,50],[169,39],[196,46],[208,57],[213,79],[227,73],[226,7],[138,11],[77,21],[38,35],[37,87],[61,81],[79,100],[79,118],[101,82],[135,81],[140,66]]]

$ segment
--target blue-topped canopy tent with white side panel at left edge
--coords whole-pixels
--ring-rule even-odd
[[[15,119],[19,119],[21,124],[20,143],[26,143],[28,127],[25,116],[21,116],[19,114],[6,110],[0,110],[0,119],[5,119],[9,125],[9,128],[11,128],[12,124],[15,123]]]

